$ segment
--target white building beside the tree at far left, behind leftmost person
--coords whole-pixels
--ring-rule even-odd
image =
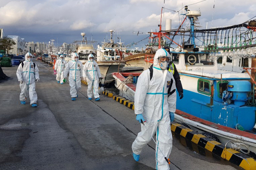
[[[20,38],[20,36],[7,36],[7,38],[11,38],[16,43],[11,48],[12,50],[9,50],[9,54],[24,54],[25,49],[25,41],[24,38]]]

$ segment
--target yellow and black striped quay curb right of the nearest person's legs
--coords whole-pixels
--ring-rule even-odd
[[[212,154],[228,160],[232,164],[240,166],[245,170],[256,170],[256,160],[250,156],[242,154],[231,148],[225,148],[225,146],[220,142],[207,138],[202,134],[198,134],[198,132],[195,132],[178,123],[172,124],[171,130],[176,134],[183,136],[186,140],[191,141],[198,146],[201,146],[205,150],[212,152]]]

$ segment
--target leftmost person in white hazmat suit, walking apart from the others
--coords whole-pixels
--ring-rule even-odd
[[[39,70],[32,62],[32,54],[29,52],[25,55],[25,61],[18,66],[16,75],[20,82],[20,103],[26,104],[25,100],[29,96],[31,106],[37,107],[36,81],[40,80]]]

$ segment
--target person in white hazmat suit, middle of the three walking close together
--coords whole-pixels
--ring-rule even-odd
[[[71,56],[71,61],[65,65],[64,79],[69,73],[69,85],[70,85],[70,95],[72,101],[76,100],[78,97],[78,92],[81,89],[81,78],[83,77],[83,64],[79,61],[79,55],[73,53]]]

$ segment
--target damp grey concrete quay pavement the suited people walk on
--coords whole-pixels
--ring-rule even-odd
[[[17,66],[2,68],[10,80],[0,83],[0,170],[150,170],[155,169],[151,141],[136,162],[131,145],[140,131],[134,111],[101,95],[87,98],[87,86],[71,101],[69,84],[57,84],[52,67],[36,61],[38,107],[19,101]],[[235,170],[228,161],[185,146],[173,134],[171,170]]]

